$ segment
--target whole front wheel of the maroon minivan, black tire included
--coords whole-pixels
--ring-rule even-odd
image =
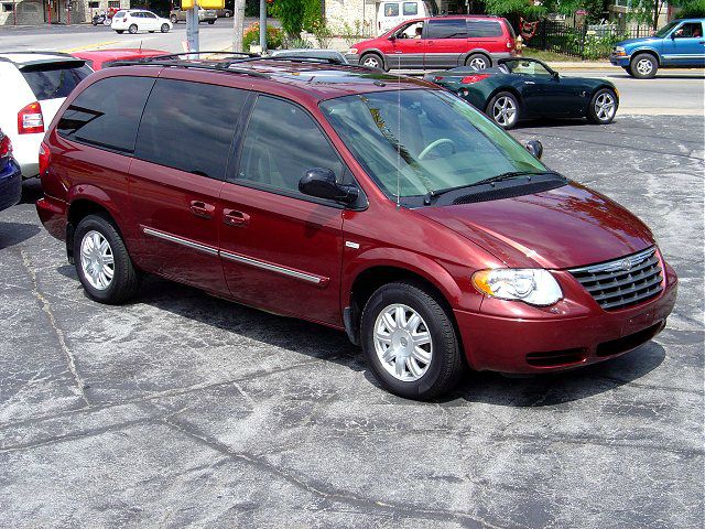
[[[436,295],[421,284],[389,283],[370,296],[362,311],[361,342],[368,366],[388,391],[400,397],[432,399],[453,389],[465,371],[452,316]],[[402,325],[405,321],[412,327],[390,326],[391,316],[384,314],[394,314],[394,323],[401,317]],[[413,335],[420,342],[429,338],[429,343],[414,346]],[[386,345],[387,338],[378,336],[390,336],[397,345]]]

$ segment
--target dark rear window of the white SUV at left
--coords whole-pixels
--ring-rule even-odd
[[[24,66],[20,72],[37,101],[66,97],[90,75],[83,62],[48,63]]]

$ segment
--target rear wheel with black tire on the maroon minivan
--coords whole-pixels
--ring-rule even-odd
[[[96,241],[106,241],[109,251],[94,250]],[[98,253],[99,261],[96,260]],[[107,272],[101,272],[110,269],[108,256],[112,258],[110,278]],[[88,215],[78,223],[74,234],[74,261],[80,284],[91,300],[119,304],[135,294],[139,287],[138,272],[120,234],[105,216]],[[95,276],[91,270],[96,270]],[[104,284],[106,281],[107,284]]]

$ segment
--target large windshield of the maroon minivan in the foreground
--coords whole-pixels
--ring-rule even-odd
[[[330,99],[321,108],[389,197],[547,171],[489,119],[445,91],[378,91]]]

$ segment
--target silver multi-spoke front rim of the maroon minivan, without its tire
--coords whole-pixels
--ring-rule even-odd
[[[384,307],[375,321],[375,350],[382,368],[404,382],[419,380],[431,366],[433,341],[423,317],[408,305]]]

